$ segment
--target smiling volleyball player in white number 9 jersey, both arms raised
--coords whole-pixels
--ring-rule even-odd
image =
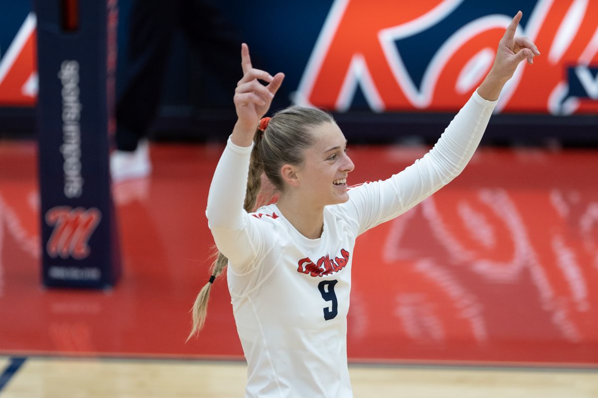
[[[532,63],[540,54],[529,39],[515,38],[520,19],[521,11],[501,39],[492,69],[434,148],[388,180],[352,188],[347,141],[328,113],[289,107],[261,119],[284,76],[254,69],[242,45],[243,78],[234,95],[238,120],[216,166],[206,210],[220,254],[197,297],[191,336],[203,326],[211,283],[228,265],[248,363],[246,397],[352,396],[346,316],[355,239],[463,170],[502,87],[520,61]],[[256,210],[262,174],[279,196]]]

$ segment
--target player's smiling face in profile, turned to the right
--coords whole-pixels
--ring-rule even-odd
[[[313,127],[312,134],[315,142],[304,151],[303,163],[294,167],[289,184],[312,206],[344,203],[349,200],[347,175],[355,168],[346,153],[347,140],[335,123]]]

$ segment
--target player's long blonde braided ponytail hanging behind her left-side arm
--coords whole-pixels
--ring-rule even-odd
[[[258,195],[260,194],[261,189],[261,175],[264,172],[264,165],[260,159],[259,147],[262,136],[263,131],[258,128],[255,131],[254,148],[251,150],[251,157],[249,160],[249,175],[247,180],[247,190],[245,193],[245,203],[243,205],[243,208],[245,208],[245,211],[247,212],[252,212],[255,210],[256,203],[258,201]],[[189,341],[191,337],[199,334],[200,330],[202,330],[203,325],[206,322],[206,316],[208,315],[208,299],[210,297],[210,290],[212,289],[212,282],[222,273],[222,271],[224,271],[228,264],[228,258],[219,252],[218,249],[216,249],[215,257],[216,260],[214,260],[212,266],[210,267],[210,280],[203,286],[202,290],[195,299],[193,308],[191,308],[191,313],[193,313],[193,327],[191,328],[191,332],[187,337],[187,341]]]

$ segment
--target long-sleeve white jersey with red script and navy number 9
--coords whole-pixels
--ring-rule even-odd
[[[228,288],[248,363],[246,397],[352,397],[347,311],[355,239],[449,183],[473,155],[495,107],[474,92],[430,152],[385,181],[324,208],[319,239],[301,235],[276,204],[243,210],[252,147],[230,138],[206,216],[228,257]]]

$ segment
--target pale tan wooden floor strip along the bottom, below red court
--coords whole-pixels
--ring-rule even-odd
[[[0,357],[0,368],[10,359]],[[246,365],[197,360],[30,357],[2,398],[242,397]],[[580,369],[351,365],[355,397],[596,398],[598,373]]]

